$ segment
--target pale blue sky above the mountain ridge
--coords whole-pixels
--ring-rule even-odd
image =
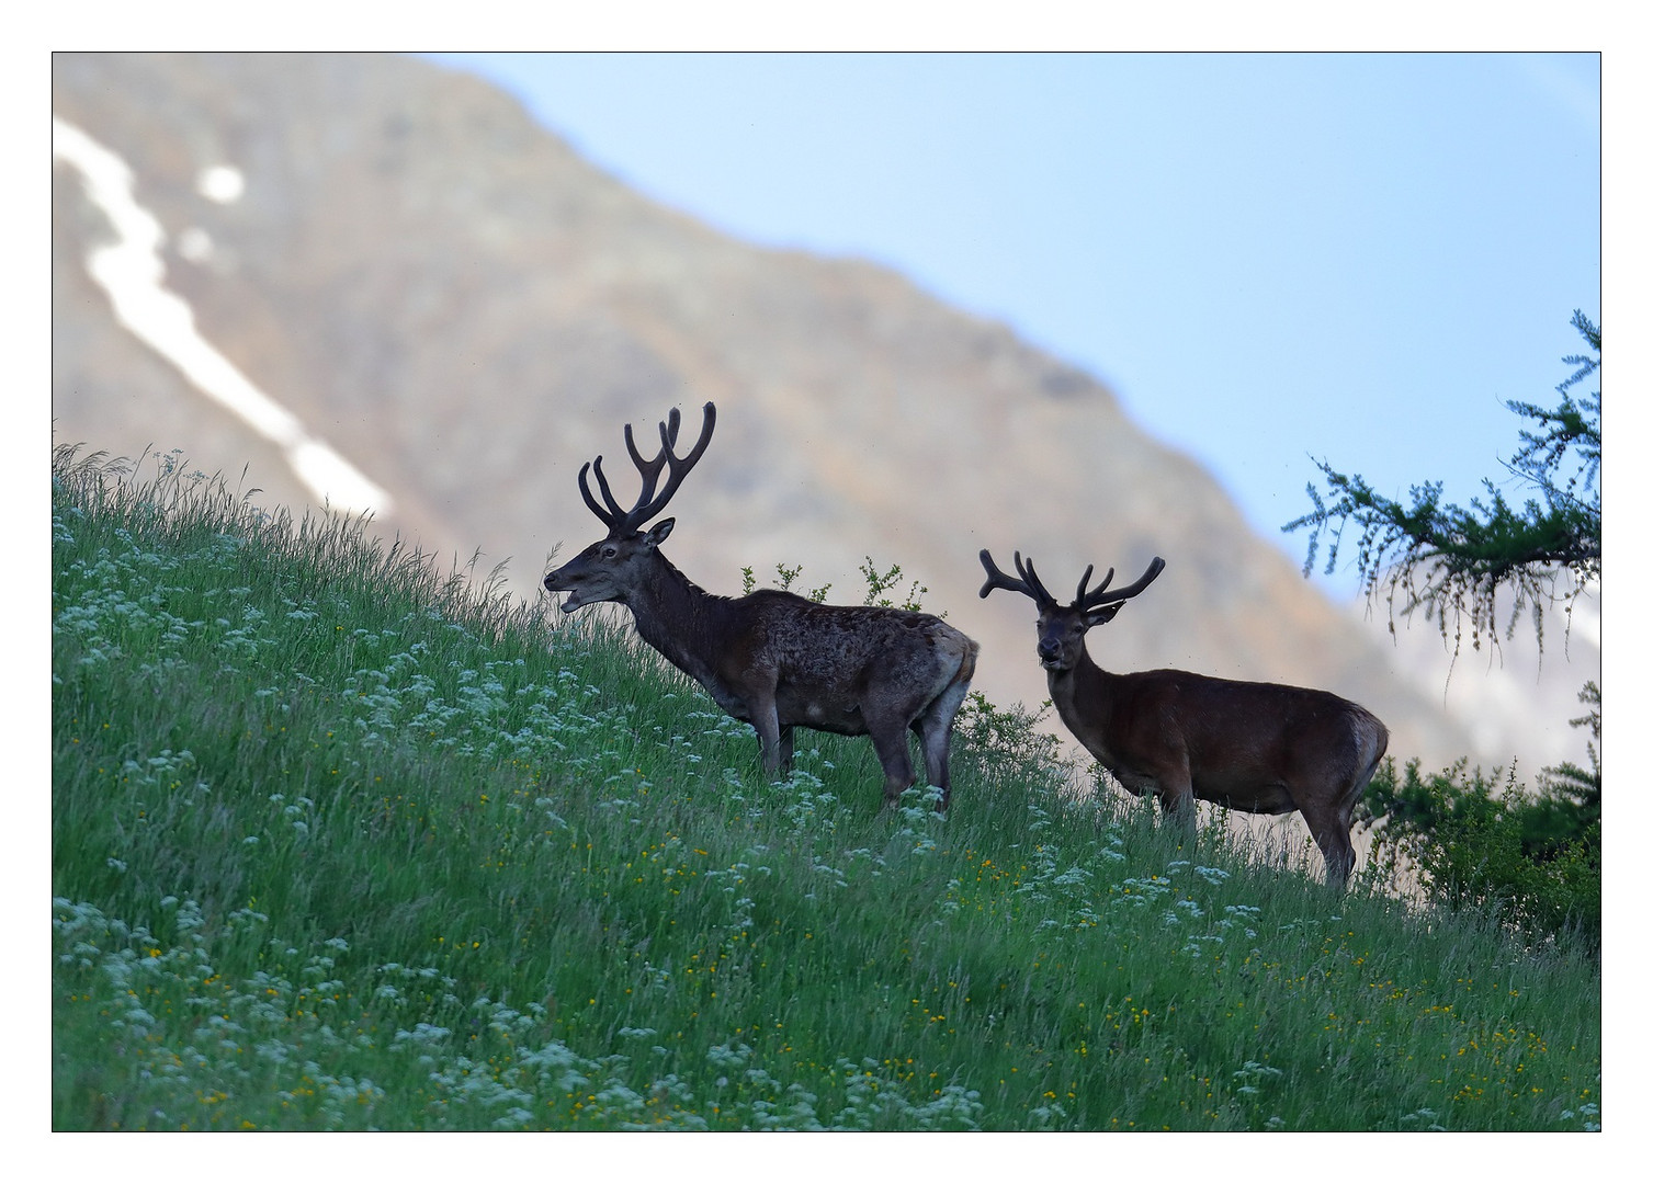
[[[1311,454],[1468,500],[1602,314],[1595,54],[435,59],[729,234],[1005,320],[1298,561]]]

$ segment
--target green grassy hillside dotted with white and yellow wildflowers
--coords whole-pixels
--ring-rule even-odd
[[[623,618],[167,464],[60,451],[53,538],[58,1130],[1600,1123],[1589,959],[1074,794],[1013,712],[879,811]]]

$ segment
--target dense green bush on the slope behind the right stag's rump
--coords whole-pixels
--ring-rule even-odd
[[[1372,778],[1357,812],[1374,826],[1372,860],[1410,862],[1428,897],[1450,908],[1488,910],[1529,943],[1602,943],[1602,821],[1562,791],[1529,793],[1511,770],[1503,784],[1466,761],[1430,776],[1393,758]]]

